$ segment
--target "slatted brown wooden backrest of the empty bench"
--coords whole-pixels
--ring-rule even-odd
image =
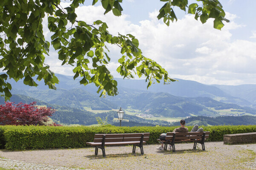
[[[94,142],[102,142],[103,135],[105,135],[105,142],[140,141],[140,137],[142,134],[144,134],[143,141],[148,141],[150,133],[124,133],[124,134],[95,134]]]

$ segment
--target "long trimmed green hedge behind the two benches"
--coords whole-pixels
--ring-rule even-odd
[[[172,132],[176,127],[51,127],[51,126],[0,126],[0,147],[9,150],[86,147],[96,133],[150,133],[148,144],[157,143],[161,133]],[[189,130],[192,126],[188,127]],[[224,134],[256,132],[256,125],[208,126],[208,141],[222,141]]]

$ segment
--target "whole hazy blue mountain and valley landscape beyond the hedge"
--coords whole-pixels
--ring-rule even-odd
[[[29,87],[23,85],[23,82],[11,82],[12,94],[16,94],[11,101],[15,103],[37,101],[38,105],[52,108],[67,107],[68,109],[64,110],[69,110],[65,113],[70,117],[69,122],[63,121],[64,113],[62,118],[59,116],[55,119],[62,123],[83,125],[88,125],[88,121],[72,121],[72,115],[77,117],[73,119],[79,120],[79,115],[85,114],[88,119],[93,120],[95,114],[113,112],[119,107],[125,109],[127,115],[135,116],[134,119],[130,118],[133,121],[140,118],[141,120],[137,122],[142,123],[142,119],[145,118],[143,123],[153,125],[160,123],[165,125],[177,121],[175,118],[189,116],[256,115],[256,99],[251,94],[256,91],[256,85],[204,85],[178,79],[179,81],[171,82],[169,85],[155,83],[146,90],[145,80],[116,79],[119,95],[100,98],[93,85],[80,85],[79,80],[74,81],[71,76],[61,74],[56,76],[60,80],[60,84],[56,85],[56,91],[47,89],[43,82],[38,82],[38,87]],[[0,102],[3,103],[3,99]],[[74,109],[77,109],[76,113]],[[57,112],[61,115],[60,109]],[[87,119],[86,116],[81,117]],[[112,115],[112,118],[114,120],[115,116]],[[157,122],[157,118],[163,122]],[[96,119],[90,122],[95,124]]]

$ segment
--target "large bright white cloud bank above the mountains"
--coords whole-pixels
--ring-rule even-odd
[[[256,42],[232,39],[230,30],[244,27],[234,22],[237,18],[234,14],[226,12],[231,21],[219,31],[213,28],[213,20],[201,24],[192,15],[185,15],[168,27],[157,20],[157,11],[149,13],[149,20],[142,20],[139,25],[129,21],[126,14],[115,17],[111,12],[103,15],[104,11],[102,6],[80,6],[76,13],[78,20],[89,24],[95,20],[106,22],[111,34],[136,36],[143,55],[159,62],[172,77],[205,84],[256,83]],[[114,77],[119,77],[116,68],[119,66],[117,59],[121,57],[120,48],[114,45],[108,48],[111,50],[108,68]],[[60,66],[57,55],[54,51],[47,58],[52,70],[73,74],[71,67],[63,69]]]

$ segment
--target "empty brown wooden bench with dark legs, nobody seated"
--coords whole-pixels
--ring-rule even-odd
[[[102,150],[103,157],[105,146],[128,145],[132,144],[132,153],[135,153],[136,147],[140,147],[141,155],[144,154],[143,144],[149,139],[149,133],[124,133],[124,134],[95,134],[94,142],[86,142],[95,146],[95,155],[98,155],[98,149]]]

